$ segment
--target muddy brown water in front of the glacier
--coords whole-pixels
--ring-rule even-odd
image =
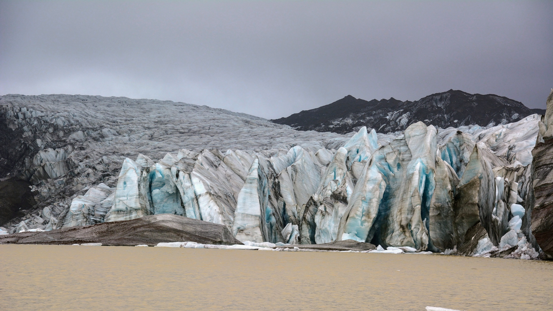
[[[0,245],[1,310],[553,310],[553,262]]]

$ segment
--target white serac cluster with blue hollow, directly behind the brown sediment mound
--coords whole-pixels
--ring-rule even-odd
[[[127,158],[106,221],[174,214],[223,224],[231,230],[243,181],[221,160],[224,157],[218,151],[182,149],[157,163],[144,155],[136,162]]]

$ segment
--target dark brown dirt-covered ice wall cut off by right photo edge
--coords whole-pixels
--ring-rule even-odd
[[[539,123],[533,155],[531,231],[546,258],[553,259],[553,89]]]

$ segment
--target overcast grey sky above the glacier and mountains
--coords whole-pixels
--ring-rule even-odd
[[[553,1],[0,2],[0,94],[183,101],[265,118],[449,89],[545,108]]]

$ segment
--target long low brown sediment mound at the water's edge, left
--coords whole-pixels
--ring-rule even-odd
[[[43,232],[0,235],[0,244],[102,243],[114,246],[154,246],[160,242],[192,241],[204,244],[242,244],[224,225],[172,214],[133,220],[67,227]]]

